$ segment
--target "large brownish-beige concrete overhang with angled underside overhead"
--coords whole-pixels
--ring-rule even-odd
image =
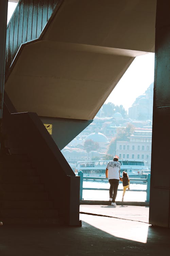
[[[134,58],[154,52],[155,16],[156,0],[63,1],[14,60],[5,90],[15,108],[93,119]]]

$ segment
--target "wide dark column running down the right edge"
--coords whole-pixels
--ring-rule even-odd
[[[170,1],[157,0],[149,223],[170,227]]]

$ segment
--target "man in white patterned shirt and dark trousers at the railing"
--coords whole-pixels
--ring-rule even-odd
[[[106,178],[110,183],[109,188],[109,204],[116,205],[115,200],[120,180],[120,163],[118,158],[114,157],[113,161],[109,161],[106,167]]]

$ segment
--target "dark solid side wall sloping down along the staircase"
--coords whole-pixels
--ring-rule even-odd
[[[9,147],[28,154],[60,217],[68,225],[79,226],[80,177],[75,176],[37,114],[15,113],[5,96],[3,131]]]

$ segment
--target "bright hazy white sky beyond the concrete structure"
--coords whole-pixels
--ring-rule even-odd
[[[16,3],[8,2],[7,22],[10,20],[16,5]],[[153,81],[154,54],[136,57],[105,103],[113,102],[115,105],[123,105],[125,110],[128,110],[135,99],[145,93]]]

